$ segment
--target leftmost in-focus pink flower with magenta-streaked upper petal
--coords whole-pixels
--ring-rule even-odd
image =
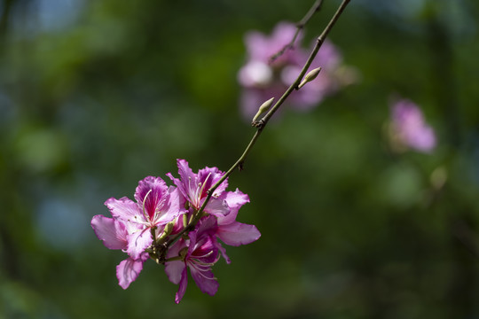
[[[159,177],[148,176],[140,181],[135,192],[136,202],[129,198],[109,198],[105,205],[114,218],[93,216],[91,227],[104,245],[122,249],[130,258],[116,268],[123,289],[133,282],[148,259],[145,249],[161,235],[164,226],[184,214],[184,202],[174,187],[168,187]]]

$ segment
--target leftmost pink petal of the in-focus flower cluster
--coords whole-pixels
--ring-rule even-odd
[[[103,240],[103,244],[109,249],[126,249],[127,230],[122,222],[108,218],[103,215],[95,215],[91,219],[91,227],[95,231],[98,239]]]

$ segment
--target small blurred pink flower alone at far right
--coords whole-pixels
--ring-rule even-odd
[[[393,147],[404,147],[418,152],[432,152],[436,147],[434,129],[424,121],[418,105],[408,99],[399,99],[391,106],[391,141]]]

